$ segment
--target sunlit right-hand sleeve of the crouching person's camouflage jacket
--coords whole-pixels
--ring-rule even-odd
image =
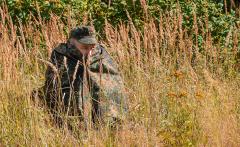
[[[96,116],[107,123],[123,120],[127,112],[127,96],[116,64],[104,48],[98,61],[90,65],[92,97]]]

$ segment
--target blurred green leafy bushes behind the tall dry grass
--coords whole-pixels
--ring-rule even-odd
[[[162,14],[171,14],[178,8],[183,15],[183,29],[191,30],[196,16],[197,27],[207,25],[204,33],[210,32],[214,43],[222,47],[230,29],[240,25],[238,0],[2,0],[2,3],[7,4],[15,24],[19,21],[26,24],[36,18],[48,21],[51,15],[60,17],[65,24],[69,17],[78,24],[87,19],[101,36],[106,20],[113,26],[132,21],[141,30],[149,17],[158,23]],[[203,24],[206,20],[208,24]],[[204,37],[201,34],[192,33],[200,50]]]

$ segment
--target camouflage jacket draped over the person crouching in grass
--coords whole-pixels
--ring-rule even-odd
[[[45,100],[55,113],[84,120],[121,120],[127,110],[122,78],[110,55],[97,45],[88,59],[67,43],[51,55],[44,85]]]

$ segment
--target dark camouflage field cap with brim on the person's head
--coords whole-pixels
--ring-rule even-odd
[[[75,38],[83,44],[97,44],[95,30],[91,26],[79,26],[72,29],[70,38]]]

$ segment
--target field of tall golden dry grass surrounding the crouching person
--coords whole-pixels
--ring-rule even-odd
[[[180,11],[163,14],[160,23],[148,18],[143,31],[130,18],[115,28],[105,22],[99,40],[121,70],[129,115],[115,132],[69,131],[30,95],[44,83],[43,61],[76,22],[52,16],[17,27],[2,8],[0,18],[0,146],[240,146],[239,27],[222,46],[207,20],[198,27],[194,17],[195,26],[184,29]]]

